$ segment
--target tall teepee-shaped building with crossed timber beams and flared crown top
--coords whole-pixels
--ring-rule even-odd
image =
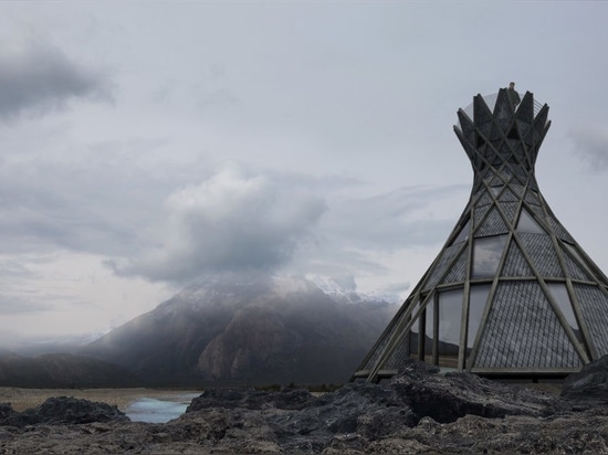
[[[547,114],[512,87],[459,109],[471,198],[354,380],[389,378],[408,358],[488,377],[560,377],[608,353],[608,278],[534,176]]]

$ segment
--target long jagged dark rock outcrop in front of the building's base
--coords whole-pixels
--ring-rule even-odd
[[[361,451],[370,442],[417,427],[421,421],[452,423],[465,415],[504,417],[547,416],[560,409],[558,399],[543,392],[481,379],[468,373],[438,374],[424,363],[410,362],[390,381],[348,383],[314,396],[305,390],[208,390],[192,400],[187,415],[218,421],[252,421],[261,412],[273,433],[268,442],[285,452]],[[227,434],[230,425],[212,434]],[[258,430],[262,431],[262,430]],[[223,436],[222,436],[223,437]]]

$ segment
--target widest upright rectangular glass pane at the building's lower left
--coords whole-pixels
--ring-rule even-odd
[[[439,294],[439,364],[458,367],[460,321],[462,318],[462,289]]]

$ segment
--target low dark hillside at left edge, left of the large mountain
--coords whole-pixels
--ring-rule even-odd
[[[69,353],[22,357],[0,356],[0,387],[20,388],[119,388],[140,380],[124,368],[103,360]]]

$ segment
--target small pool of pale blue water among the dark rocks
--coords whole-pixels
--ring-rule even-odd
[[[141,398],[130,403],[125,414],[133,422],[165,423],[184,414],[190,401],[199,394],[176,394],[163,400]]]

